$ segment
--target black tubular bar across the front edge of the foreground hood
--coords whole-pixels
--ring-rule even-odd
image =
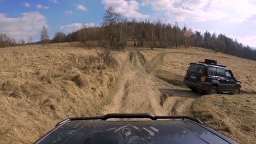
[[[102,121],[106,121],[109,118],[150,118],[153,121],[158,120],[158,119],[189,119],[191,121],[194,121],[196,123],[202,124],[201,121],[199,119],[193,118],[193,117],[189,117],[189,116],[154,116],[152,114],[149,113],[109,113],[107,115],[104,116],[97,116],[97,117],[71,117],[71,118],[67,118],[64,121],[61,121],[59,123],[57,123],[55,125],[55,127],[57,127],[57,125],[65,123],[67,121],[79,121],[79,120],[96,120],[96,119],[100,119]]]

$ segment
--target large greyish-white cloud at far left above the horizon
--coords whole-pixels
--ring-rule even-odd
[[[22,17],[12,18],[0,14],[0,32],[6,33],[9,37],[16,40],[28,40],[31,35],[40,33],[42,27],[46,25],[45,17],[38,11],[23,13]]]

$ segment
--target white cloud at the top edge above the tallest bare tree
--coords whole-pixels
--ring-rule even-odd
[[[106,9],[113,7],[116,13],[120,13],[125,17],[148,17],[148,15],[141,14],[137,11],[141,4],[135,0],[130,0],[129,2],[125,0],[102,0],[101,3],[105,5]]]

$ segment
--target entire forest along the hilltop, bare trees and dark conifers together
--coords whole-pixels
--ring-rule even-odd
[[[41,31],[41,40],[44,43],[49,36],[45,28]],[[149,20],[128,21],[126,18],[108,8],[100,27],[86,27],[85,25],[76,32],[65,34],[56,32],[51,43],[65,43],[80,41],[86,45],[88,41],[97,41],[99,46],[110,46],[114,49],[124,49],[125,46],[146,46],[154,48],[174,48],[184,46],[204,47],[214,52],[223,52],[229,55],[256,61],[256,50],[248,45],[239,43],[236,39],[226,37],[225,34],[211,34],[206,31],[193,32],[191,28],[179,27],[161,21]],[[6,34],[0,33],[0,47],[16,44],[15,39],[9,39]],[[24,44],[24,40],[20,40]]]

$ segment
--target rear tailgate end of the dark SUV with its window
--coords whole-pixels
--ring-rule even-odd
[[[191,82],[199,83],[205,68],[203,64],[192,63],[187,71],[187,79]]]

